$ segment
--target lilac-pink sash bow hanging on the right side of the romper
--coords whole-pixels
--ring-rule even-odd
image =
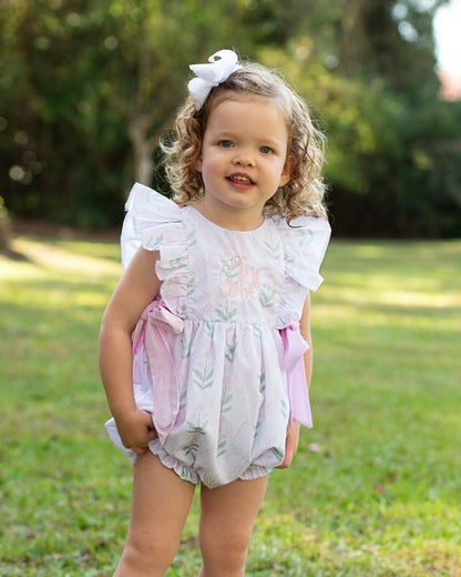
[[[290,421],[296,421],[310,428],[313,416],[304,365],[304,353],[309,348],[309,345],[303,338],[298,323],[281,328],[280,335],[284,345],[283,364],[288,375]]]

